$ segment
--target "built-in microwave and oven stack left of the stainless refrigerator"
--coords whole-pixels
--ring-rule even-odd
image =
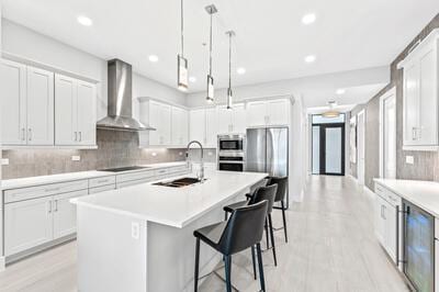
[[[219,135],[218,170],[244,171],[246,161],[245,144],[245,135]]]

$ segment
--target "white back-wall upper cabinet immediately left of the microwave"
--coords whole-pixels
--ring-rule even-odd
[[[216,148],[217,114],[215,108],[190,111],[190,139],[199,141],[205,148]]]

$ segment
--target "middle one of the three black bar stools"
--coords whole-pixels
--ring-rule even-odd
[[[271,211],[273,209],[277,190],[278,190],[277,184],[271,184],[269,187],[260,187],[260,188],[256,189],[254,195],[249,199],[249,201],[247,201],[248,205],[256,204],[256,203],[259,203],[264,200],[268,201],[264,228],[266,228],[266,236],[267,236],[267,246],[269,246],[269,235],[268,234],[270,231],[271,246],[272,246],[271,248],[273,250],[274,266],[278,266],[278,259],[275,256],[275,245],[274,245],[273,225],[272,225],[272,220],[271,220]],[[239,202],[239,203],[241,203],[241,202]],[[226,206],[224,206],[224,211],[226,212],[226,214],[227,214],[227,212],[230,213],[235,210],[234,207],[236,207],[236,205],[239,203],[226,205]],[[255,258],[254,251],[252,251],[252,257]],[[254,259],[254,261],[255,261],[255,259]],[[255,270],[255,267],[254,267],[254,270]],[[255,272],[255,277],[256,277],[256,272]]]

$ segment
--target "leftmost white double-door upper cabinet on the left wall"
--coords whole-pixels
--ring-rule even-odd
[[[3,145],[54,145],[54,74],[1,60]]]

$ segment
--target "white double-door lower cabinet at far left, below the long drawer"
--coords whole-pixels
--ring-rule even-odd
[[[4,255],[71,235],[76,232],[76,207],[71,198],[88,190],[8,203],[4,205]]]

